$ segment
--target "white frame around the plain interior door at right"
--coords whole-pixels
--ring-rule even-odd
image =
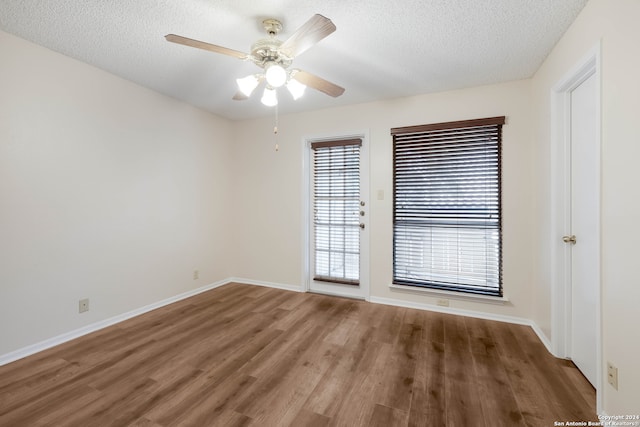
[[[598,43],[551,89],[551,350],[556,357],[571,354],[571,247],[562,241],[571,226],[571,92],[589,77],[596,79],[596,170],[598,206],[596,250],[598,253],[596,295],[596,405],[600,413],[602,397],[602,252],[601,252],[601,46]]]

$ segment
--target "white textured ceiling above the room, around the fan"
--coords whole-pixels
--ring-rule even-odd
[[[249,52],[277,18],[285,40],[313,14],[337,30],[293,66],[346,88],[280,113],[528,78],[587,0],[1,0],[0,29],[230,119],[272,114],[233,101],[250,62],[168,43],[175,33]],[[0,53],[1,57],[1,53]],[[281,89],[282,91],[282,89]]]

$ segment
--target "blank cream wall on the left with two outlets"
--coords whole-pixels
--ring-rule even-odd
[[[0,355],[230,275],[229,122],[3,32],[0,57]]]

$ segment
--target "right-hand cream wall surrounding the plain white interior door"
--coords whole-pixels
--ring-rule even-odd
[[[537,252],[533,318],[551,337],[549,233],[551,88],[601,41],[602,331],[604,361],[618,367],[619,389],[603,381],[604,410],[640,412],[640,2],[591,0],[532,80],[536,147]],[[603,370],[606,376],[606,368]]]

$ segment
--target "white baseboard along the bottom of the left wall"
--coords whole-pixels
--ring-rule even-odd
[[[109,319],[101,320],[99,322],[92,323],[87,326],[83,326],[82,328],[75,329],[70,332],[66,332],[64,334],[55,336],[53,338],[46,339],[44,341],[40,341],[38,343],[29,345],[27,347],[20,348],[18,350],[12,351],[10,353],[0,355],[0,366],[6,365],[7,363],[11,363],[18,359],[22,359],[27,356],[31,356],[32,354],[47,350],[51,347],[55,347],[67,341],[71,341],[73,339],[79,338],[83,335],[90,334],[95,331],[99,331],[100,329],[104,329],[108,326],[115,325],[116,323],[123,322],[127,319],[131,319],[132,317],[139,316],[141,314],[147,313],[149,311],[155,310],[160,307],[164,307],[165,305],[172,304],[174,302],[183,300],[185,298],[192,297],[194,295],[200,294],[202,292],[209,291],[211,289],[215,289],[219,286],[230,283],[229,280],[221,280],[219,282],[211,283],[206,286],[202,286],[197,289],[193,289],[191,291],[187,291],[173,297],[164,299],[162,301],[155,302],[153,304],[146,305],[141,308],[137,308],[135,310],[129,311],[127,313],[119,314],[114,317],[110,317]]]

